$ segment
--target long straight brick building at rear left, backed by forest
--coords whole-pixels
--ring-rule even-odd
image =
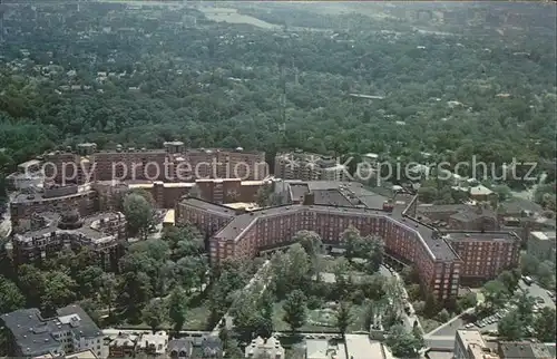
[[[268,175],[265,153],[221,148],[186,148],[182,142],[164,148],[98,151],[96,144],[45,155],[45,175],[59,184],[95,181],[193,182],[199,178],[264,180]]]

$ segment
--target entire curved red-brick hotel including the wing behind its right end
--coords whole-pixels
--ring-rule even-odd
[[[301,230],[317,232],[325,243],[339,243],[350,225],[362,235],[383,239],[389,254],[414,263],[422,282],[441,301],[457,295],[460,281],[488,280],[517,265],[519,239],[512,233],[441,234],[405,214],[363,207],[294,204],[250,213],[198,198],[184,198],[177,205],[177,223],[194,223],[211,239],[212,262],[227,258],[253,258],[262,250],[290,244]],[[478,250],[481,249],[481,250]]]

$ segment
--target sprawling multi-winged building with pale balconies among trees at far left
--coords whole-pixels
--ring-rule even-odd
[[[31,221],[31,231],[13,236],[9,255],[16,264],[42,261],[65,248],[74,251],[89,248],[98,255],[101,266],[111,269],[123,254],[120,244],[126,239],[126,219],[121,213],[97,213],[81,219],[74,210],[62,215],[36,214]]]

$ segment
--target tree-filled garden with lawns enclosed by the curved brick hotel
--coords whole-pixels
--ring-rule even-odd
[[[369,332],[373,324],[389,343],[405,343],[395,355],[414,356],[423,347],[422,333],[404,324],[402,285],[380,273],[382,241],[362,237],[353,226],[342,236],[343,258],[323,255],[319,234],[310,231],[296,233],[296,244],[275,253],[258,282],[237,293],[231,308],[234,339],[247,345],[276,331],[292,338]]]

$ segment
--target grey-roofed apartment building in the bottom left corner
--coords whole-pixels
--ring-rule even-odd
[[[79,305],[60,308],[53,318],[43,318],[31,308],[2,314],[0,319],[8,329],[10,356],[58,358],[90,350],[98,358],[108,357],[102,332]]]

